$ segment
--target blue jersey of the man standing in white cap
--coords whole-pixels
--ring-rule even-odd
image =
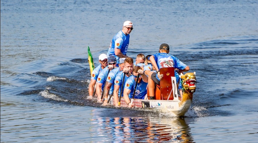
[[[116,63],[119,63],[119,57],[115,55],[115,48],[121,50],[121,53],[126,55],[129,46],[130,35],[125,35],[122,30],[119,31],[112,39],[107,55],[114,55],[116,57]]]

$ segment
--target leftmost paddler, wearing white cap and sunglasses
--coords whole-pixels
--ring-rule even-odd
[[[104,69],[107,66],[107,55],[106,54],[102,53],[99,55],[99,63],[100,63],[100,65],[98,65],[92,71],[91,82],[89,84],[89,99],[92,99],[94,86],[96,84],[96,80],[97,80],[99,73],[102,71],[102,69]]]

